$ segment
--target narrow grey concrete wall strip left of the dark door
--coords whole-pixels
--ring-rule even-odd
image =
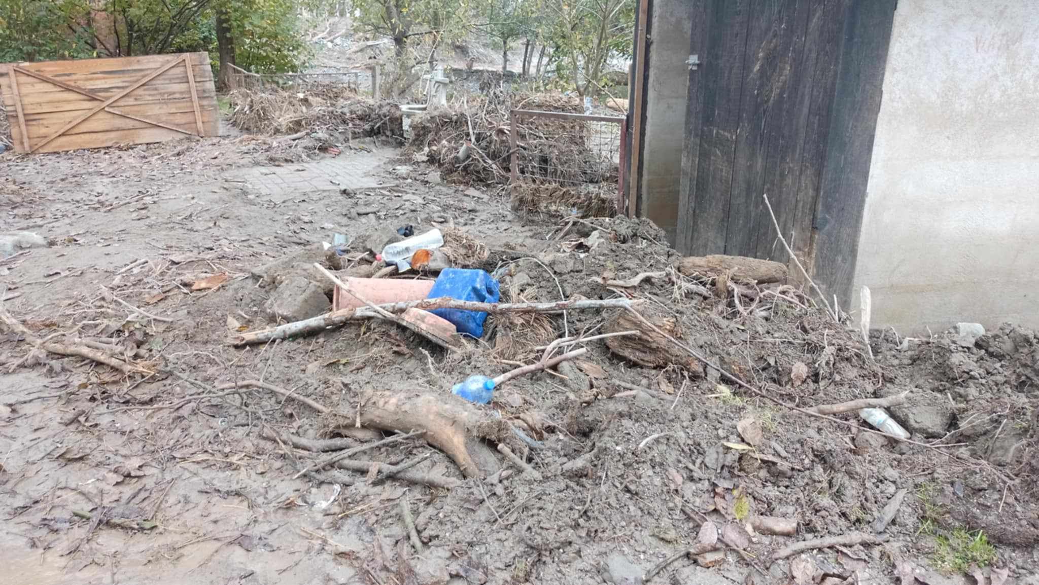
[[[649,72],[643,135],[641,215],[652,219],[674,244],[689,88],[691,9],[686,0],[654,0],[649,20]]]

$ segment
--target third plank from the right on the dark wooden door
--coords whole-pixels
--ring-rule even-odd
[[[780,26],[775,49],[776,76],[770,83],[772,107],[765,118],[764,184],[762,192],[769,194],[769,202],[776,214],[781,234],[791,240],[794,213],[797,209],[797,174],[804,145],[804,117],[810,87],[804,63],[804,39],[814,0],[785,2],[780,14]],[[749,254],[787,262],[787,250],[776,237],[775,228],[761,194],[755,197],[754,213],[756,233],[750,234]]]

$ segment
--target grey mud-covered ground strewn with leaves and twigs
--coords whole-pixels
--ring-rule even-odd
[[[2,329],[7,582],[636,583],[692,548],[708,518],[743,552],[681,556],[651,583],[976,583],[971,564],[987,565],[986,584],[1037,583],[1034,333],[1006,326],[964,347],[955,334],[878,330],[871,358],[857,331],[793,288],[739,285],[737,302],[669,270],[676,255],[647,222],[516,214],[497,189],[442,184],[374,145],[339,156],[368,157],[383,187],[267,197],[230,177],[277,160],[282,147],[270,144],[0,158],[0,232],[51,242],[0,264],[6,311],[35,336],[76,331],[149,372],[30,352],[24,336]],[[507,300],[638,299],[762,394],[698,361],[639,366],[592,341],[581,361],[516,378],[478,407],[539,443],[525,456],[540,477],[486,449],[487,477],[463,480],[445,454],[409,440],[357,455],[361,472],[293,479],[327,454],[265,434],[363,445],[379,437],[352,428],[366,392],[452,403],[451,384],[465,375],[532,363],[536,346],[603,333],[616,317],[491,317],[482,340],[453,353],[383,322],[228,343],[274,321],[265,307],[278,280],[255,276],[259,267],[305,258],[335,232],[364,239],[405,224],[453,227],[485,246],[486,258],[480,246],[458,258],[497,269]],[[604,285],[652,271],[664,275]],[[192,290],[214,275],[227,280]],[[214,390],[241,380],[335,413],[263,389]],[[915,443],[867,433],[854,413],[835,415],[841,423],[782,405],[906,390],[893,415]],[[425,453],[412,477],[457,485],[384,478],[371,466]],[[884,542],[773,561],[796,541],[871,533],[899,494]],[[758,516],[796,520],[797,534],[748,531]]]

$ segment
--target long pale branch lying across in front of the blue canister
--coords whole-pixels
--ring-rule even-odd
[[[491,314],[561,313],[563,311],[629,309],[632,307],[632,301],[627,298],[612,298],[606,300],[570,299],[558,302],[476,302],[471,300],[458,300],[450,297],[439,297],[378,304],[376,307],[379,310],[387,311],[389,313],[403,313],[408,309],[421,309],[423,311],[432,311],[433,309],[460,309],[463,311],[478,311]],[[231,338],[229,343],[231,345],[254,345],[258,343],[267,343],[276,339],[288,339],[317,334],[331,327],[342,326],[348,321],[371,319],[373,317],[379,317],[379,314],[369,307],[341,309],[339,311],[332,311],[331,313],[319,315],[303,321],[295,321],[257,331],[246,331]]]

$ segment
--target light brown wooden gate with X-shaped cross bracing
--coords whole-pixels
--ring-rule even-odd
[[[20,153],[219,134],[206,53],[0,64],[0,89]]]

